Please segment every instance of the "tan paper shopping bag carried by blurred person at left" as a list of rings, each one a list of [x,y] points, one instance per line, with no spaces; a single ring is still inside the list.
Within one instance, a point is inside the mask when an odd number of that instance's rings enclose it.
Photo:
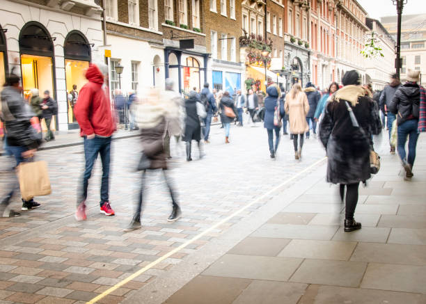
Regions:
[[[17,167],[19,188],[24,200],[31,200],[34,196],[49,195],[52,193],[47,163],[33,161],[20,163]]]

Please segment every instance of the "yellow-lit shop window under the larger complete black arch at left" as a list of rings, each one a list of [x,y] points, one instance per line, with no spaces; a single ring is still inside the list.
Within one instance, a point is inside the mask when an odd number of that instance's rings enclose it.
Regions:
[[[31,98],[31,89],[33,88],[38,88],[40,97],[43,97],[42,94],[45,90],[49,90],[51,94],[54,93],[52,57],[24,54],[21,56],[21,68],[25,99]],[[47,130],[44,120],[42,121],[42,129],[43,131]],[[52,119],[51,129],[56,129],[55,118]]]

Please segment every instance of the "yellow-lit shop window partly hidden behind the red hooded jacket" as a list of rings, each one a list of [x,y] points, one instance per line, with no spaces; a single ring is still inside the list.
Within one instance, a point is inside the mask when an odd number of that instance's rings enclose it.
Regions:
[[[68,123],[77,122],[74,117],[74,106],[78,102],[78,93],[86,84],[84,73],[88,69],[88,61],[76,61],[65,59],[65,78],[68,95]],[[76,88],[74,90],[73,88]],[[77,92],[75,92],[77,91]]]

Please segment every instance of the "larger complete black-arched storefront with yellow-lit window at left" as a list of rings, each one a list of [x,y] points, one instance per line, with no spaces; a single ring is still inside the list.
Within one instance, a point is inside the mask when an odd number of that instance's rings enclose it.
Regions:
[[[31,89],[37,88],[41,97],[45,90],[55,99],[54,90],[54,45],[45,27],[38,22],[28,22],[19,33],[22,88],[24,97],[31,97]],[[47,129],[45,122],[42,128]],[[56,118],[52,119],[52,129],[56,129]]]

